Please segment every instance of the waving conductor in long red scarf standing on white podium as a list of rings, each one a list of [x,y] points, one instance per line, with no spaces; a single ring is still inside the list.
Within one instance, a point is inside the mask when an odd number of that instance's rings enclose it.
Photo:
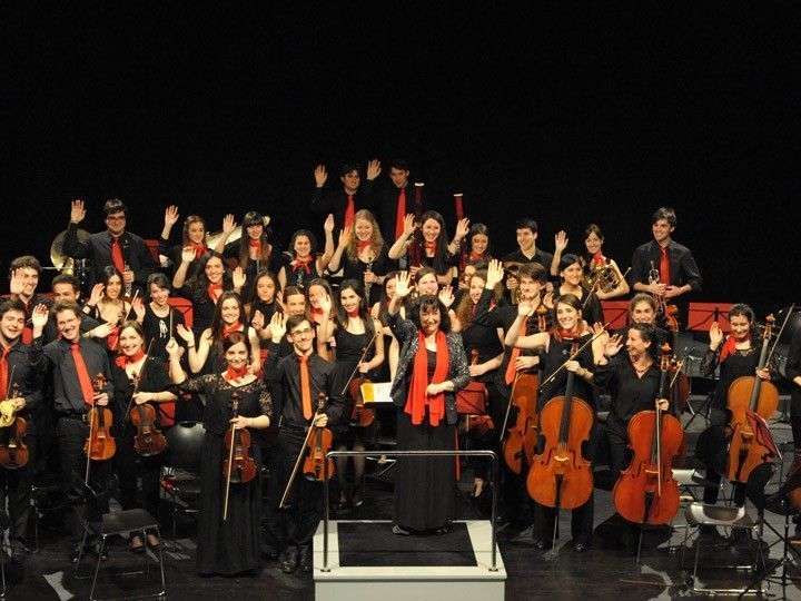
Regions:
[[[456,446],[456,396],[469,380],[462,337],[433,295],[421,296],[408,318],[398,315],[409,294],[409,274],[398,275],[389,303],[389,324],[402,346],[392,385],[397,407],[397,449],[453,451]],[[395,465],[393,531],[443,531],[455,515],[456,459],[399,457]]]

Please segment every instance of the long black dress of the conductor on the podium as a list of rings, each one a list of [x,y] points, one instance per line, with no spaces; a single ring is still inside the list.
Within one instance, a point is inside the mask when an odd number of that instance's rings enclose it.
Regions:
[[[436,368],[436,353],[426,349],[428,382]],[[428,408],[419,425],[403,407],[397,411],[398,451],[453,451],[456,425],[443,418],[438,426],[428,420]],[[399,457],[395,464],[394,522],[405,530],[444,528],[456,515],[456,457]]]

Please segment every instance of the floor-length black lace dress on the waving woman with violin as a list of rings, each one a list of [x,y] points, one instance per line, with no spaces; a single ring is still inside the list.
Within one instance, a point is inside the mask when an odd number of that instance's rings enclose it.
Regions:
[[[237,574],[259,568],[261,482],[259,471],[247,483],[231,484],[228,519],[222,521],[225,479],[224,436],[233,417],[231,393],[239,394],[239,415],[270,415],[273,403],[261,380],[234,386],[219,374],[188,380],[180,388],[206,395],[204,437],[200,451],[200,513],[197,533],[197,571],[201,574]],[[251,450],[258,455],[258,446]],[[260,457],[256,457],[258,463]]]

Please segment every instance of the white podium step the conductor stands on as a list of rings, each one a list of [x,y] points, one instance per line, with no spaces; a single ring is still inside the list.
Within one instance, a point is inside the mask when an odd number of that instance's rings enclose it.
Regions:
[[[488,521],[465,524],[475,565],[340,565],[339,523],[328,523],[328,569],[323,571],[323,523],[314,538],[314,580],[317,601],[494,601],[504,599],[506,570],[496,548],[496,570],[492,570],[491,525]],[[370,523],[390,529],[387,522]],[[413,538],[397,536],[398,544]],[[419,542],[417,540],[416,542]],[[396,545],[397,546],[397,545]],[[360,549],[360,553],[382,552]],[[424,552],[421,552],[424,554]]]

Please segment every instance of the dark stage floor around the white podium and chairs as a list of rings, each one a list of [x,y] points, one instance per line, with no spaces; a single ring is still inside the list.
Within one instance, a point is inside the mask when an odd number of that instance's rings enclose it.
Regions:
[[[689,431],[688,449],[694,449],[694,440],[702,430],[702,420],[699,417]],[[791,440],[788,424],[774,421],[771,431],[780,447]],[[788,447],[790,445],[787,445]],[[792,452],[785,455],[787,466],[792,462]],[[692,457],[690,457],[692,461]],[[387,474],[387,476],[390,472]],[[466,476],[468,477],[468,476]],[[468,483],[462,486],[468,490]],[[769,487],[769,491],[771,489]],[[726,493],[729,489],[724,490]],[[458,503],[461,520],[481,519],[484,514],[482,508],[469,501],[465,494]],[[755,516],[751,503],[748,511]],[[523,512],[524,513],[524,512]],[[557,540],[555,551],[543,552],[534,548],[531,539],[531,529],[525,521],[518,524],[507,524],[498,532],[498,544],[507,573],[506,599],[523,600],[547,598],[552,600],[580,599],[591,595],[594,599],[624,598],[627,601],[639,599],[670,599],[692,598],[689,592],[688,573],[692,573],[694,544],[690,543],[686,550],[685,571],[679,562],[681,549],[678,552],[669,550],[670,544],[681,545],[684,533],[681,528],[671,533],[654,530],[646,534],[642,551],[642,561],[635,562],[634,556],[627,554],[620,546],[610,546],[604,543],[604,535],[609,531],[609,519],[613,515],[611,493],[606,490],[595,490],[595,526],[596,538],[593,546],[585,553],[578,554],[568,544],[570,512],[562,514],[560,530],[562,536]],[[365,506],[358,512],[352,511],[343,515],[344,520],[387,519],[392,515],[392,490],[384,479],[372,479],[365,494]],[[522,515],[523,518],[523,515]],[[783,530],[783,516],[768,513],[768,522],[780,532]],[[675,525],[684,523],[680,512]],[[69,544],[62,535],[63,516],[51,514],[46,516],[41,525],[40,552],[28,555],[24,573],[13,570],[8,563],[10,600],[68,600],[86,599],[88,597],[90,580],[75,580],[72,565],[68,563]],[[377,529],[389,529],[387,524],[374,524]],[[350,526],[349,526],[350,528]],[[362,526],[359,536],[366,535]],[[791,534],[794,524],[790,524]],[[169,529],[167,529],[168,531]],[[271,599],[271,600],[303,600],[314,598],[314,582],[310,574],[284,574],[276,561],[266,561],[264,570],[255,577],[246,578],[200,578],[195,574],[195,545],[190,538],[192,532],[190,523],[184,523],[179,531],[180,551],[165,552],[165,566],[168,598],[210,599],[219,595],[220,599]],[[168,532],[165,532],[168,534]],[[397,551],[405,536],[387,536],[387,552]],[[764,540],[768,544],[777,541],[777,536],[765,530]],[[748,541],[726,544],[721,538],[704,538],[704,551],[699,568],[699,583],[704,585],[726,588],[744,587],[750,580],[746,572],[723,570],[720,565],[748,563],[750,560]],[[411,548],[418,541],[409,540]],[[713,548],[716,545],[718,548]],[[770,559],[781,558],[781,545],[770,548]],[[385,558],[380,559],[384,561]],[[141,561],[140,556],[128,551],[127,542],[117,540],[111,550],[111,559],[101,566],[100,595],[119,597],[119,585],[126,584],[126,577],[109,577],[116,570],[132,569]],[[415,561],[415,560],[407,560]],[[87,564],[88,568],[88,564]],[[790,575],[795,575],[789,571]],[[155,584],[156,574],[150,574]],[[154,589],[150,589],[154,590]],[[144,591],[142,591],[144,592]],[[773,584],[770,595],[781,597],[781,587]],[[698,597],[701,597],[700,594]],[[795,579],[787,588],[789,599],[801,599],[801,580]]]

